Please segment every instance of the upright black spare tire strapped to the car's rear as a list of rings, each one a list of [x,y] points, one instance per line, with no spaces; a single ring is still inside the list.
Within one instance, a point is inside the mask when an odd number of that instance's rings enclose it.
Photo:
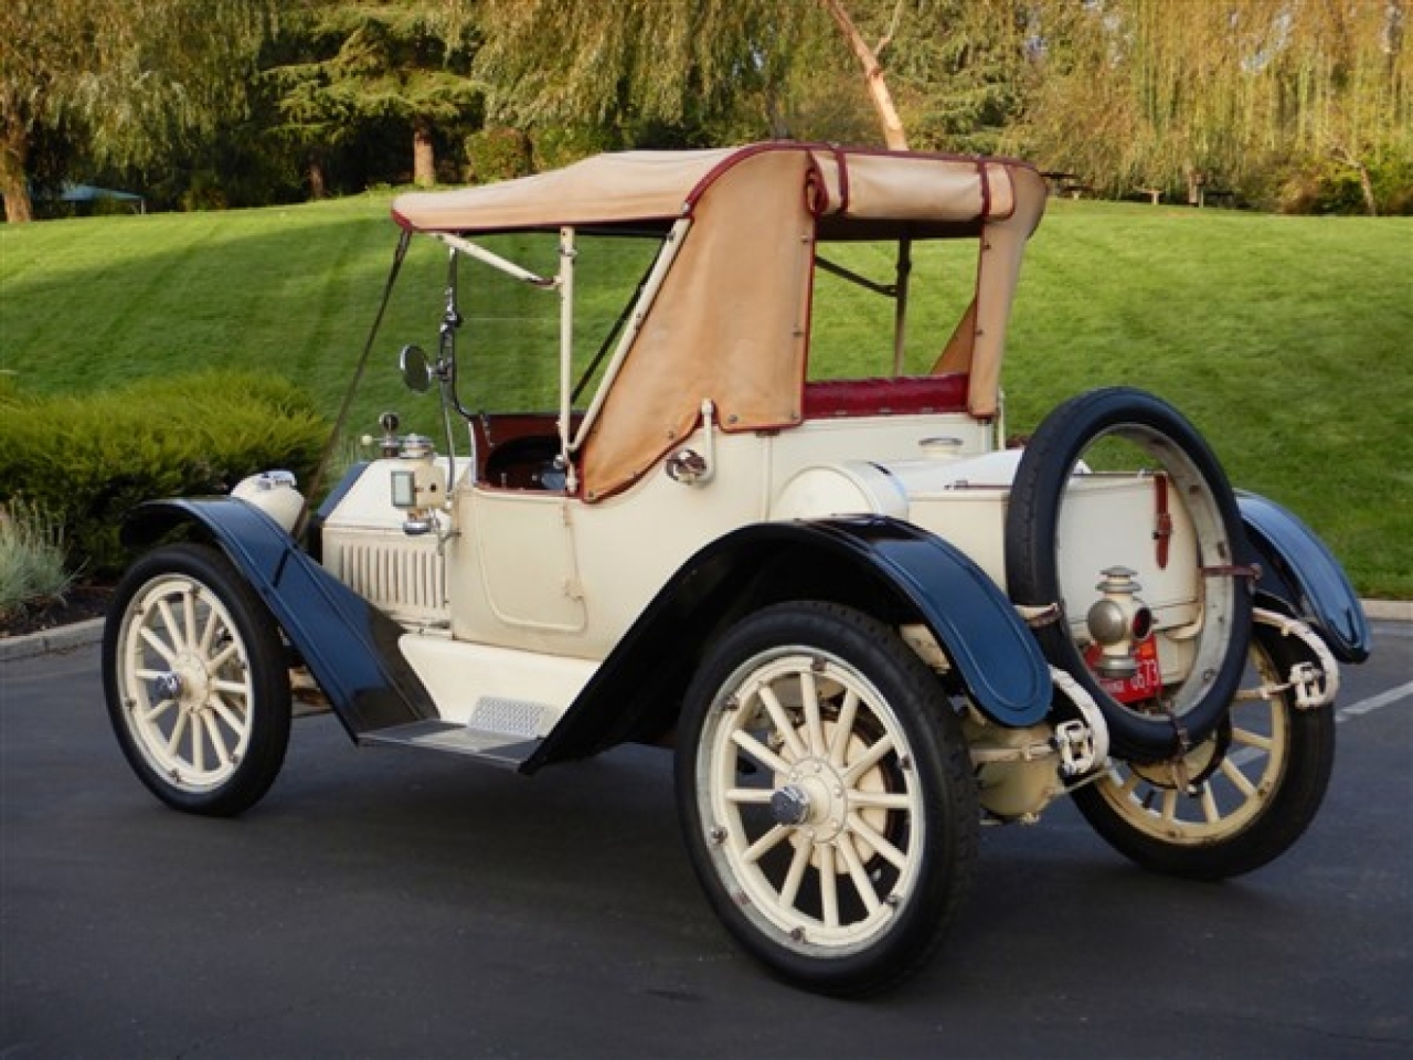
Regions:
[[[1104,690],[1070,632],[1068,609],[1087,608],[1089,601],[1063,599],[1057,543],[1075,465],[1105,437],[1139,445],[1174,482],[1174,503],[1186,505],[1197,527],[1198,567],[1241,567],[1248,563],[1249,548],[1236,499],[1217,457],[1195,427],[1153,394],[1130,387],[1080,394],[1050,413],[1026,445],[1006,514],[1010,596],[1027,606],[1061,605],[1058,622],[1036,629],[1046,657],[1094,697],[1116,755],[1156,762],[1178,753],[1183,739],[1190,746],[1205,741],[1226,717],[1246,663],[1251,591],[1249,582],[1231,574],[1205,578],[1197,594],[1207,611],[1197,636],[1197,661],[1193,677],[1174,693],[1173,717],[1130,709]],[[1099,578],[1099,571],[1092,574]],[[1204,579],[1201,570],[1191,575],[1194,585]]]

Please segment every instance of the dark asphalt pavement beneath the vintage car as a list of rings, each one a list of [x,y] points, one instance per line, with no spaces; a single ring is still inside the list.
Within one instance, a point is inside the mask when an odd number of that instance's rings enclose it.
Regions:
[[[1347,670],[1320,818],[1197,885],[1078,814],[986,830],[916,979],[784,987],[691,876],[671,759],[534,779],[297,722],[239,820],[127,770],[97,650],[0,661],[0,1059],[1409,1057],[1413,625]]]

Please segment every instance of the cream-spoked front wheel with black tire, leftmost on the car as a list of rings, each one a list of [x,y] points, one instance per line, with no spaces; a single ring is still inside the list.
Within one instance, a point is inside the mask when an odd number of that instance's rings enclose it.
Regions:
[[[127,571],[103,629],[103,691],[123,755],[177,810],[239,814],[284,763],[278,628],[216,548],[157,548]]]

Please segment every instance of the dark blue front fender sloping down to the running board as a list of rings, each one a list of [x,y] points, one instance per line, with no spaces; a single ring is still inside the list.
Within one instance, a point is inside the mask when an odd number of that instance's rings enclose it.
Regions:
[[[264,512],[236,497],[154,500],[133,509],[123,543],[199,526],[260,594],[350,735],[437,717],[403,660],[401,626],[311,560]]]

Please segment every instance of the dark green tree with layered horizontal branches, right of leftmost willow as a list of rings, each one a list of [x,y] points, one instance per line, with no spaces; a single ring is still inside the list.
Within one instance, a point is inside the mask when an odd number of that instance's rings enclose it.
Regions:
[[[437,129],[479,124],[473,44],[469,8],[455,0],[314,3],[287,34],[294,55],[266,76],[281,114],[277,131],[307,151],[315,194],[325,154],[389,119],[411,133],[413,179],[434,184]]]

